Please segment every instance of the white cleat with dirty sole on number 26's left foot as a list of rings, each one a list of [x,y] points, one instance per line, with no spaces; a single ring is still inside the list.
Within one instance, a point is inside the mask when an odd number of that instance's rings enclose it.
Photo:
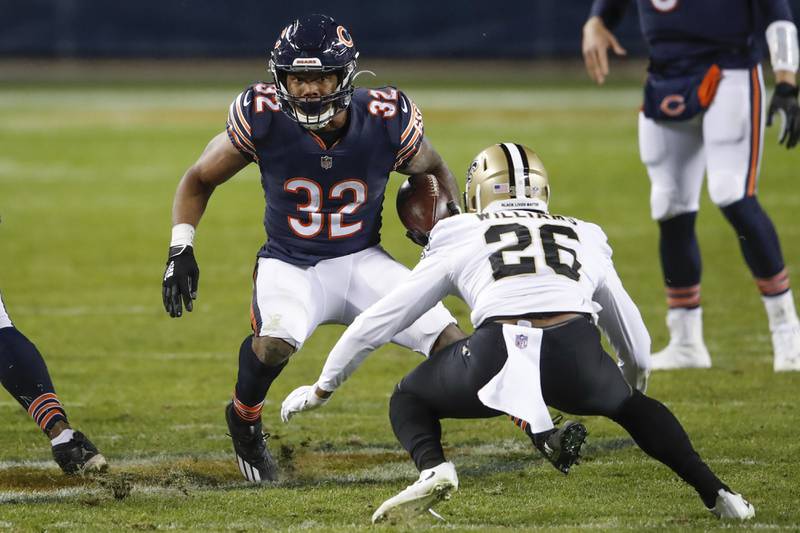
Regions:
[[[458,490],[458,476],[453,463],[442,463],[423,470],[419,479],[396,496],[381,504],[372,514],[372,523],[407,521],[428,511],[442,500],[449,500],[450,493]]]

